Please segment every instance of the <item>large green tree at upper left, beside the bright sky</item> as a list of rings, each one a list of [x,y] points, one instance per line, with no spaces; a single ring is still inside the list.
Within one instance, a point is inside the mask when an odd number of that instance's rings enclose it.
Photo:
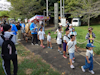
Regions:
[[[41,0],[9,0],[12,4],[10,9],[11,17],[30,18],[36,14],[43,14],[44,6],[40,5]]]

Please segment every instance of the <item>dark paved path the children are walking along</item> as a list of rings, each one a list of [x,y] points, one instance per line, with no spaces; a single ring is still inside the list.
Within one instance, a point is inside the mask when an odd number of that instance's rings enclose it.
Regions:
[[[34,52],[36,55],[40,55],[47,63],[51,64],[54,68],[56,68],[59,72],[65,72],[65,75],[91,75],[88,70],[86,73],[81,71],[80,66],[85,64],[85,57],[82,55],[75,53],[75,63],[74,66],[76,67],[74,70],[69,66],[69,60],[64,59],[62,55],[60,55],[57,51],[57,45],[53,41],[53,49],[41,48],[40,46],[32,46],[31,42],[29,41],[26,43],[25,41],[21,41],[21,43],[27,47],[31,52]],[[46,46],[46,41],[44,41]],[[79,51],[79,50],[78,50]],[[80,53],[85,53],[84,51],[79,51]],[[100,58],[97,57],[100,61]],[[100,75],[100,65],[94,62],[94,71],[95,75]]]

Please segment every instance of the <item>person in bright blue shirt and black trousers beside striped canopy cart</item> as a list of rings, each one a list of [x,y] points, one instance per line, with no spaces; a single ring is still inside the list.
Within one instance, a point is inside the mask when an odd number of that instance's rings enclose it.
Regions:
[[[34,40],[36,41],[35,45],[38,45],[38,37],[37,37],[38,27],[37,27],[36,23],[37,23],[37,21],[34,20],[34,22],[31,23],[31,25],[30,25],[30,31],[32,34],[32,45],[35,44]]]

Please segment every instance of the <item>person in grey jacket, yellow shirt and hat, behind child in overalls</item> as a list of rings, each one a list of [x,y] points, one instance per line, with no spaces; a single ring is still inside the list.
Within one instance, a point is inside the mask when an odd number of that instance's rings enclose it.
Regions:
[[[92,32],[93,28],[92,27],[89,27],[88,28],[88,33],[86,35],[86,39],[88,40],[87,43],[91,43],[93,44],[94,43],[94,38],[96,38],[95,34]]]

